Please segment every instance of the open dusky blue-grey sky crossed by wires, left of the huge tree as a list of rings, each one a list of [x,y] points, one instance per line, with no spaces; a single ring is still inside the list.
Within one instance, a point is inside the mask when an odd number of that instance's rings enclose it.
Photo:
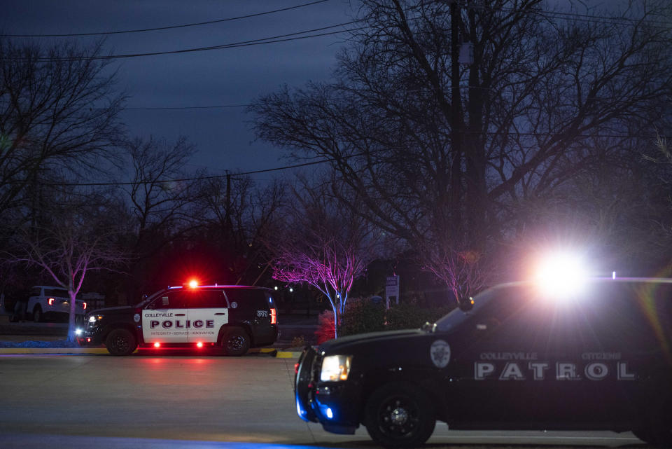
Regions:
[[[79,34],[186,25],[264,13],[314,0],[3,0],[2,34]],[[351,20],[347,0],[328,0],[258,17],[153,32],[106,36],[110,53],[151,53],[218,46],[336,25]],[[325,32],[335,31],[328,29]],[[89,42],[92,37],[68,37]],[[50,41],[53,38],[25,38]],[[327,81],[346,34],[260,46],[113,62],[128,108],[248,104],[281,85]],[[130,135],[184,135],[197,146],[192,168],[246,172],[286,165],[282,153],[254,141],[244,107],[126,110]],[[274,176],[274,175],[273,175]],[[264,177],[265,179],[271,177]]]

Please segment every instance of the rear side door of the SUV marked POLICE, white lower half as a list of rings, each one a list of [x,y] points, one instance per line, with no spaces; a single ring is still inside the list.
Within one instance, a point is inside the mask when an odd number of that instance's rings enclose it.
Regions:
[[[219,329],[229,322],[221,289],[186,289],[189,303],[189,343],[216,343]]]

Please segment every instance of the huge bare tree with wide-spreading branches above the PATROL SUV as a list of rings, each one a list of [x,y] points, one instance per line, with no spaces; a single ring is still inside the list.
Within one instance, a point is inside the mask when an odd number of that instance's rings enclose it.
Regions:
[[[590,166],[594,139],[631,151],[672,95],[668,3],[588,11],[607,15],[596,21],[552,5],[365,0],[337,81],[261,97],[255,130],[332,160],[351,209],[468,296],[517,211]]]

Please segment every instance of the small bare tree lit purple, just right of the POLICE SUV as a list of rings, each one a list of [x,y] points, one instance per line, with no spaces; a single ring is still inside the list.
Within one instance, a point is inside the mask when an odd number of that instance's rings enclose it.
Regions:
[[[336,335],[355,279],[376,256],[378,237],[372,226],[339,207],[325,188],[295,188],[295,205],[287,224],[269,249],[275,279],[306,283],[329,300]]]

